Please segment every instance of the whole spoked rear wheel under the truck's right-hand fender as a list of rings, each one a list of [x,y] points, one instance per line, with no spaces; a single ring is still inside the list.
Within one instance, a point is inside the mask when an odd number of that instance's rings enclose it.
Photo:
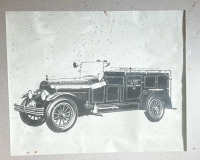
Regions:
[[[151,122],[158,122],[165,113],[165,103],[159,95],[152,95],[147,99],[147,110],[145,115]]]

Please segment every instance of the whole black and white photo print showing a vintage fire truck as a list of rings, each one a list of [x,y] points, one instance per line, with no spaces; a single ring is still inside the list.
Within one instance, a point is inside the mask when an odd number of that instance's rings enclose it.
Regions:
[[[183,151],[183,11],[7,11],[12,156]]]

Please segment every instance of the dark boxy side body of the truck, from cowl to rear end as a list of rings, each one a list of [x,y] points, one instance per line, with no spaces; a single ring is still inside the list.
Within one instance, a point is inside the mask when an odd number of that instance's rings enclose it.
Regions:
[[[89,103],[140,103],[145,92],[163,91],[170,97],[170,74],[150,72],[105,72],[106,86],[91,90]]]

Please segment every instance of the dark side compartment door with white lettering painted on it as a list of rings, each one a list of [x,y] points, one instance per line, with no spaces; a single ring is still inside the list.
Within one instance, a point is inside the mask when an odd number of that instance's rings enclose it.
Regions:
[[[134,100],[140,98],[142,93],[142,76],[127,75],[126,76],[126,100]]]

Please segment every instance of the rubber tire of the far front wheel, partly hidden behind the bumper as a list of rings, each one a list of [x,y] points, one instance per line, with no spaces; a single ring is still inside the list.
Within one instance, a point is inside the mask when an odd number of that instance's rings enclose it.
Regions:
[[[26,103],[27,103],[27,99],[25,99],[25,100],[22,102],[21,105],[25,105]],[[32,120],[31,118],[29,118],[29,116],[28,116],[29,114],[27,114],[27,113],[19,112],[19,115],[20,115],[21,120],[22,120],[25,124],[27,124],[27,125],[29,125],[29,126],[37,127],[37,126],[41,126],[41,125],[45,122],[44,117],[42,117],[42,118],[39,119],[39,120]]]

